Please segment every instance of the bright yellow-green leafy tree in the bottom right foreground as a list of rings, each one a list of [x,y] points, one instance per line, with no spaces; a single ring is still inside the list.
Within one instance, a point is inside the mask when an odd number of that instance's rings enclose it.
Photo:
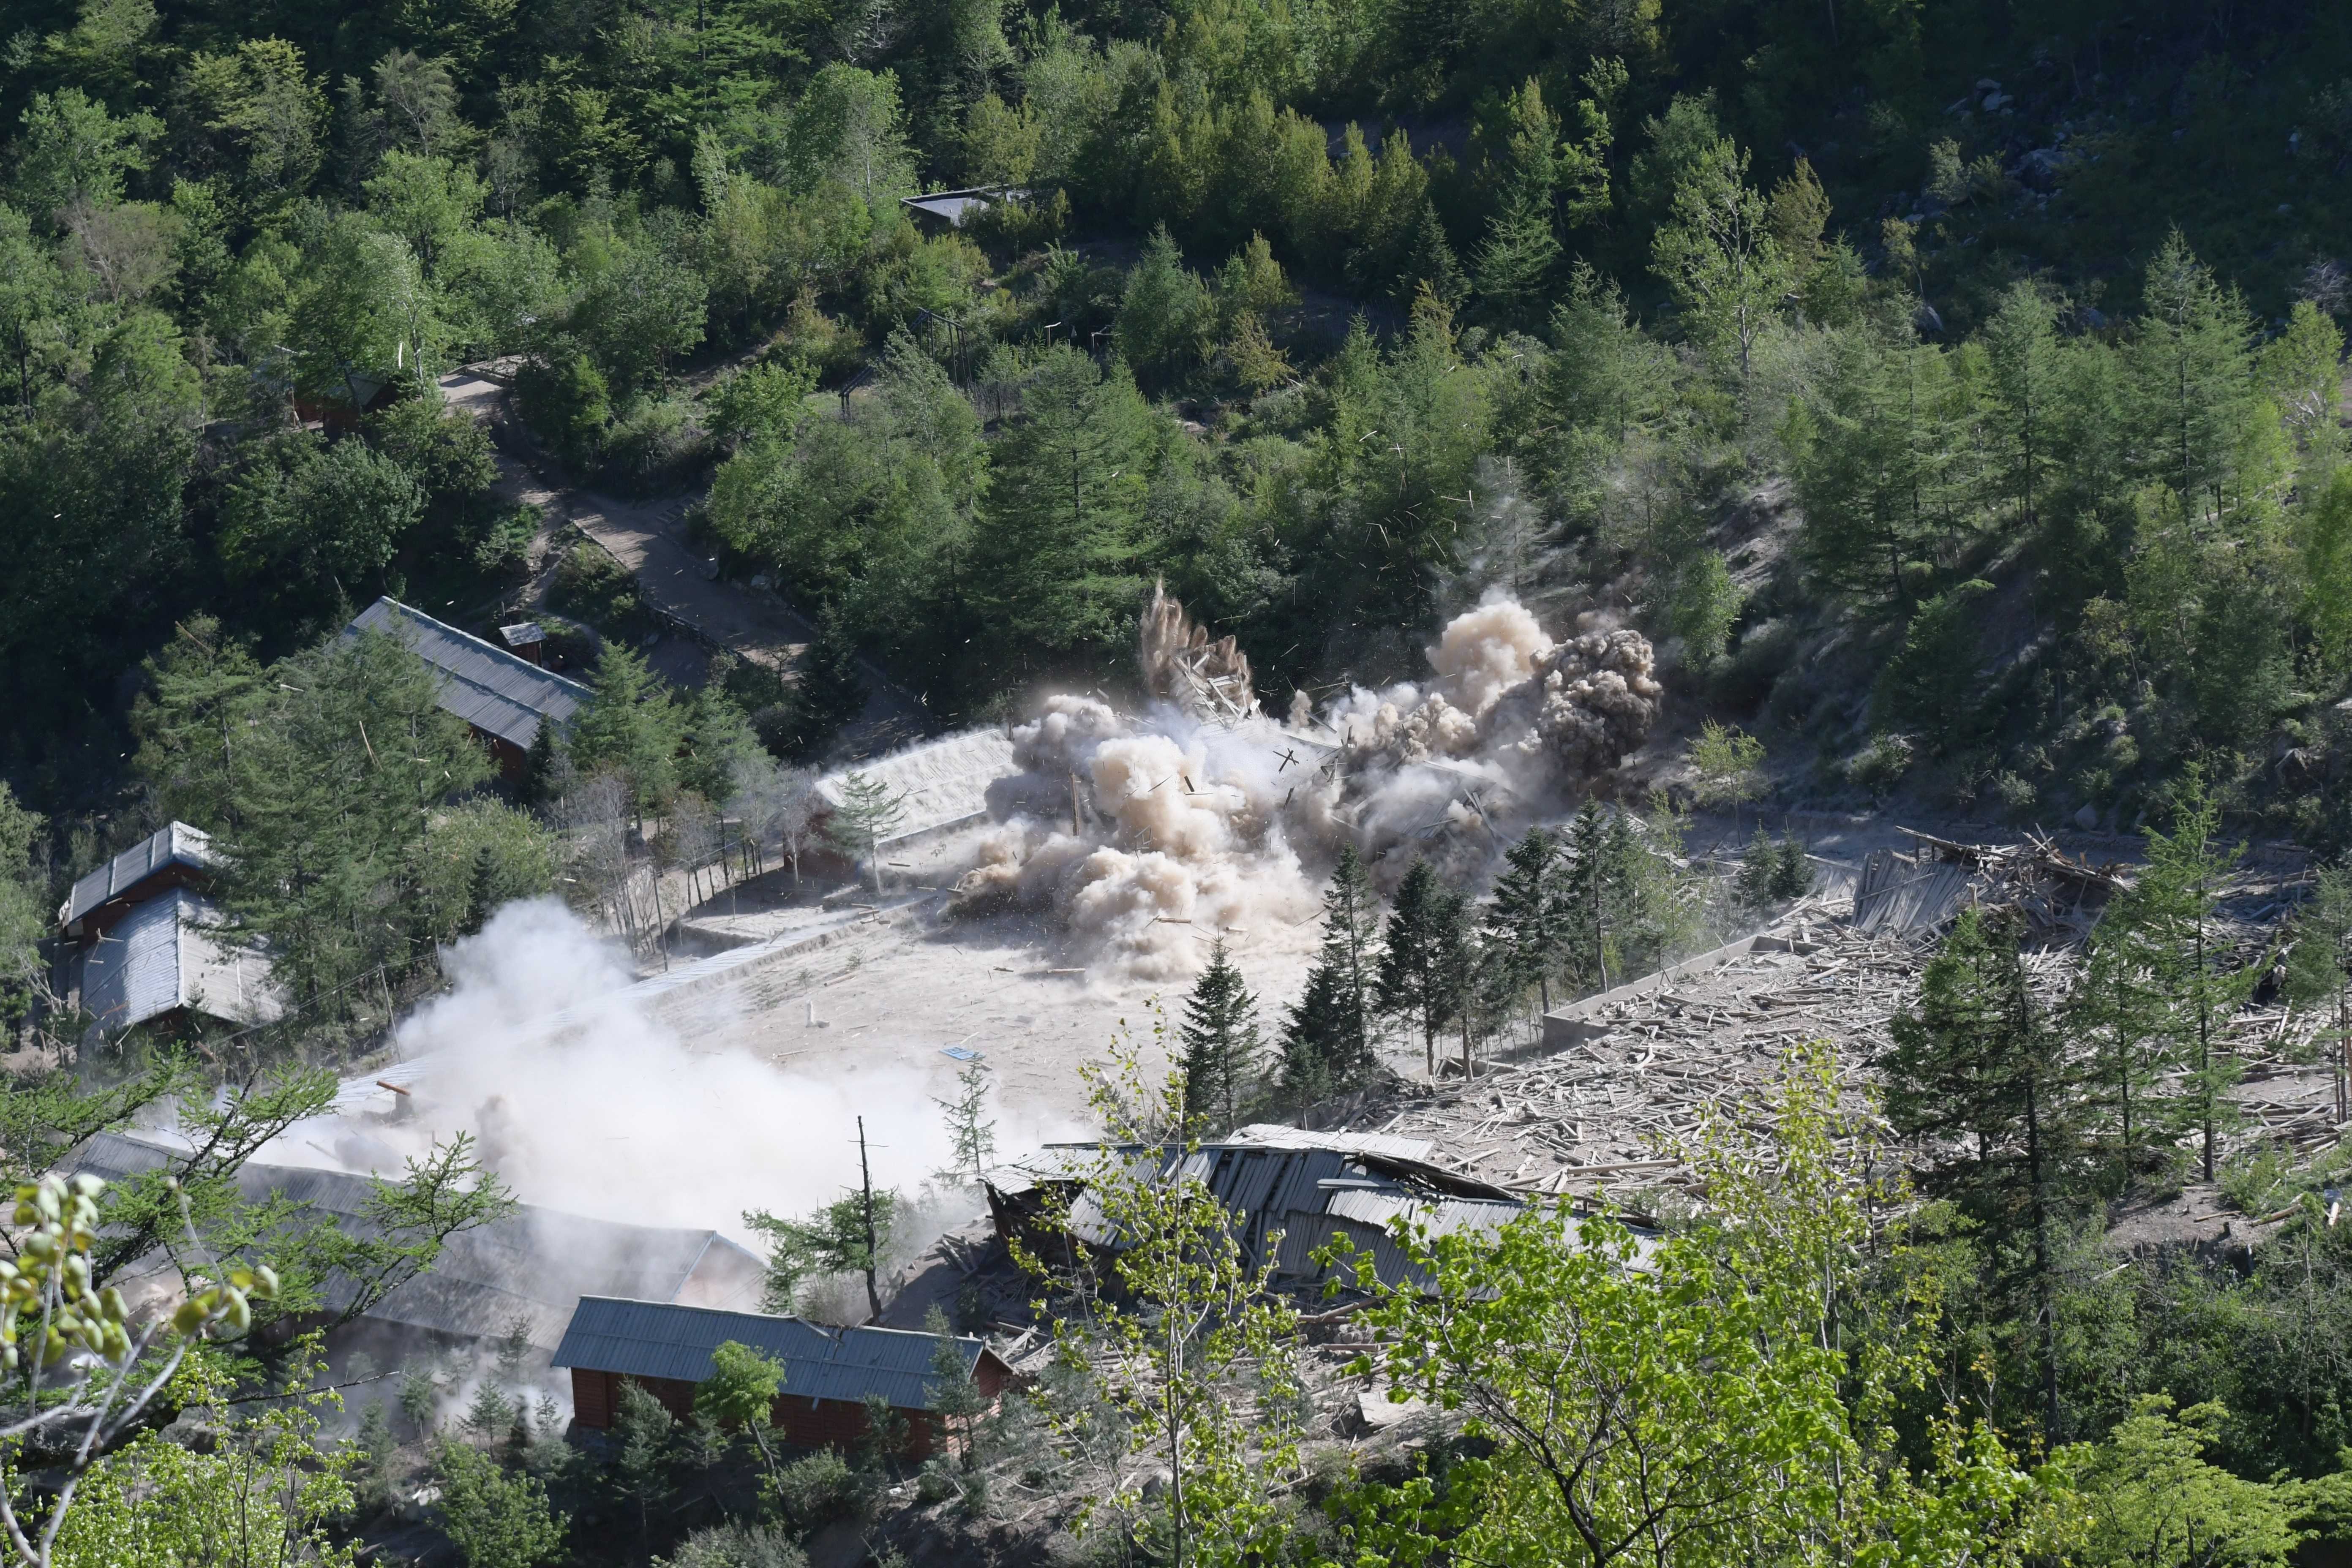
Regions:
[[[1924,1347],[1825,1331],[1870,1239],[1870,1192],[1832,1154],[1835,1107],[1835,1067],[1795,1058],[1773,1147],[1710,1131],[1708,1211],[1656,1241],[1559,1204],[1491,1239],[1395,1222],[1421,1267],[1402,1286],[1355,1260],[1383,1342],[1357,1371],[1458,1410],[1491,1446],[1449,1474],[1463,1505],[1449,1554],[1515,1561],[1524,1542],[1571,1542],[1592,1563],[1717,1561],[1835,1542],[2018,1561],[2063,1540],[2058,1481],[2025,1474],[1990,1427],[1945,1415],[1917,1469],[1879,1446]],[[1374,1493],[1355,1535],[1421,1561],[1437,1502],[1428,1481]]]

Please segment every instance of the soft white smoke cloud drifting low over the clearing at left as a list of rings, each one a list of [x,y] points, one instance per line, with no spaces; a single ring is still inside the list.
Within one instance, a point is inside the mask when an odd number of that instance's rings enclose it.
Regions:
[[[800,1215],[858,1178],[866,1117],[877,1185],[915,1192],[950,1164],[948,1131],[913,1067],[844,1079],[743,1051],[689,1048],[628,987],[628,954],[553,898],[510,903],[442,959],[454,987],[400,1027],[430,1056],[400,1121],[322,1119],[261,1159],[397,1175],[435,1138],[470,1133],[524,1204],[633,1225],[710,1227],[750,1244],[746,1208]],[[995,1107],[1000,1147],[1082,1135]],[[755,1248],[757,1251],[757,1248]]]

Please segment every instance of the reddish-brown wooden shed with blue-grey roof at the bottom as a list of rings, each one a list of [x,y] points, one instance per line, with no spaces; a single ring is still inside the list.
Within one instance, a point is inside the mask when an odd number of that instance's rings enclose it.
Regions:
[[[710,1378],[710,1354],[729,1340],[783,1363],[783,1392],[769,1425],[786,1443],[854,1443],[868,1429],[866,1399],[882,1396],[908,1420],[908,1458],[927,1460],[943,1446],[943,1422],[934,1410],[936,1335],[823,1328],[797,1316],[609,1295],[581,1298],[555,1349],[555,1366],[572,1371],[572,1420],[609,1429],[623,1382],[649,1392],[670,1415],[689,1418],[696,1385]],[[981,1396],[995,1401],[1011,1382],[1011,1368],[978,1338],[957,1335],[953,1345]]]

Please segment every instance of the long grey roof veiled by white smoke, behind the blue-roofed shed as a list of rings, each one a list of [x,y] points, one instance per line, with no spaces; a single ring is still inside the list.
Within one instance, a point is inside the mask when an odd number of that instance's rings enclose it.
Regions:
[[[181,1154],[148,1138],[101,1133],[82,1145],[71,1168],[122,1182]],[[376,1190],[365,1175],[247,1164],[238,1171],[238,1192],[254,1204],[285,1197],[332,1218],[348,1237],[379,1234],[369,1213]],[[449,1237],[428,1274],[386,1295],[367,1316],[475,1340],[503,1335],[520,1316],[532,1345],[553,1349],[583,1295],[753,1307],[762,1276],[757,1255],[713,1229],[621,1225],[524,1204],[503,1220]],[[327,1309],[341,1312],[353,1281],[327,1279],[320,1295]]]

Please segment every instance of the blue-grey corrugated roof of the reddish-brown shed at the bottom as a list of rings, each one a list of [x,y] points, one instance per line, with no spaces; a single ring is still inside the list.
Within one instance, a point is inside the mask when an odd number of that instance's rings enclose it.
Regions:
[[[856,1403],[882,1394],[898,1410],[931,1408],[931,1356],[938,1352],[934,1335],[903,1328],[818,1328],[764,1312],[588,1295],[572,1314],[555,1366],[701,1382],[710,1375],[710,1352],[729,1340],[783,1361],[788,1399]],[[978,1366],[978,1340],[960,1335],[955,1347],[967,1373]]]

